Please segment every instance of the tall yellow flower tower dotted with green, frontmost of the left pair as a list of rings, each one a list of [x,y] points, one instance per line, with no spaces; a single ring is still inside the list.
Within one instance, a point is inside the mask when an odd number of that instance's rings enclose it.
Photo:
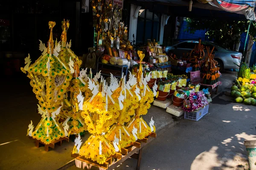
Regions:
[[[55,48],[53,48],[52,28],[54,26],[55,22],[50,21],[50,37],[47,48],[40,41],[41,57],[30,66],[30,57],[27,57],[25,59],[26,66],[21,68],[24,73],[28,73],[28,77],[31,79],[30,85],[39,100],[38,112],[42,116],[35,130],[31,121],[28,135],[44,144],[49,144],[65,136],[63,128],[55,118],[61,111],[61,102],[72,77],[70,70],[72,67],[68,68],[58,58],[58,52],[61,51],[59,43],[55,44]]]

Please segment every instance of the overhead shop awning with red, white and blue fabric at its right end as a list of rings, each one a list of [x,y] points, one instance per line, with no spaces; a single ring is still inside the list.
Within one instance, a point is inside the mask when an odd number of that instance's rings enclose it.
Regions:
[[[213,17],[223,19],[255,19],[256,0],[212,0],[200,3],[193,0],[192,11],[189,11],[189,0],[127,0],[138,6],[180,17]],[[231,12],[231,13],[230,13]],[[246,17],[246,18],[245,18]]]

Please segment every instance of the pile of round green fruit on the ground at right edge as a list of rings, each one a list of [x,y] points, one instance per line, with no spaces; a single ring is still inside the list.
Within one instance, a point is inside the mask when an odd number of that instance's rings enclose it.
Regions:
[[[256,86],[241,86],[239,89],[236,85],[231,87],[231,96],[235,98],[237,103],[242,103],[246,105],[256,106]]]

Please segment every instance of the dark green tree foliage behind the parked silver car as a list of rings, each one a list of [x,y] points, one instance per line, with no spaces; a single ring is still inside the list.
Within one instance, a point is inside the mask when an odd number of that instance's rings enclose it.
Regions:
[[[206,35],[210,40],[223,45],[226,48],[239,42],[240,35],[247,32],[250,21],[228,21],[228,20],[208,20],[187,18],[188,25],[185,31],[193,34],[196,30],[206,30]],[[249,35],[256,37],[256,22],[252,21]],[[256,38],[254,38],[254,41]]]

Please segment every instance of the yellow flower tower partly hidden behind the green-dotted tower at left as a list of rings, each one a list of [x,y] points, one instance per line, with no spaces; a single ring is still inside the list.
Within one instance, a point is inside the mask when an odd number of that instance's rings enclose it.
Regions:
[[[72,79],[65,93],[63,109],[61,118],[65,119],[62,123],[65,133],[68,136],[78,134],[87,130],[87,127],[81,119],[81,110],[84,101],[83,92],[86,90],[86,83],[84,82],[84,71],[80,73],[79,68],[82,61],[74,54],[70,49],[70,43],[67,43],[67,29],[69,28],[69,20],[61,22],[62,34],[61,34],[61,51],[59,52],[59,58],[68,67],[71,66]],[[79,75],[80,73],[80,75]],[[70,97],[69,97],[70,96]]]

